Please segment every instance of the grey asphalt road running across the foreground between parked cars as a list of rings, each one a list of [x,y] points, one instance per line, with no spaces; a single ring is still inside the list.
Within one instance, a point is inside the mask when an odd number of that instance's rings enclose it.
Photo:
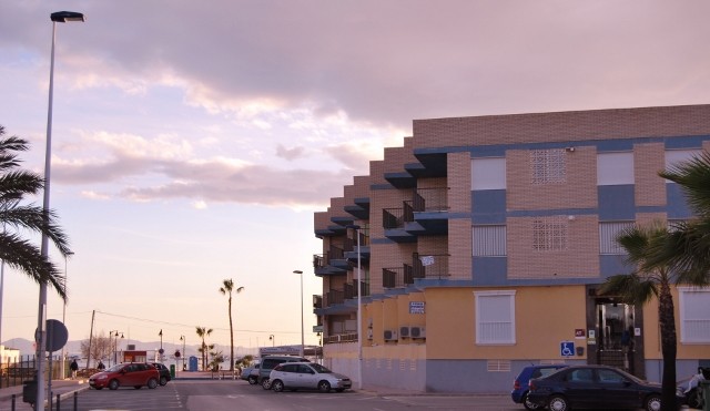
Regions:
[[[64,401],[62,410],[72,410]],[[122,388],[116,391],[85,390],[78,410],[190,410],[190,411],[399,411],[481,410],[520,411],[507,395],[386,394],[371,391],[321,393],[273,392],[245,381],[178,380],[154,390]]]

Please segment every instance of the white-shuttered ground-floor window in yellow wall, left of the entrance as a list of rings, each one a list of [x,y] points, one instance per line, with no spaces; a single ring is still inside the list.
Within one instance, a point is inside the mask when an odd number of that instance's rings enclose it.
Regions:
[[[515,343],[515,291],[474,291],[476,343]]]

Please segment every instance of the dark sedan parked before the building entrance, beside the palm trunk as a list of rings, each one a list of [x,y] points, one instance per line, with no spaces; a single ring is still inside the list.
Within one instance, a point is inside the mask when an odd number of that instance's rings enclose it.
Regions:
[[[531,379],[528,401],[550,411],[661,409],[661,384],[608,366],[574,366]],[[678,404],[682,401],[678,399]]]

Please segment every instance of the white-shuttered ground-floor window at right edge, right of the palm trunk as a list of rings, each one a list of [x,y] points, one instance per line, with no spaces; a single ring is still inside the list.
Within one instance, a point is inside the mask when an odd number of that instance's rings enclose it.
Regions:
[[[710,342],[710,289],[679,287],[680,342]]]

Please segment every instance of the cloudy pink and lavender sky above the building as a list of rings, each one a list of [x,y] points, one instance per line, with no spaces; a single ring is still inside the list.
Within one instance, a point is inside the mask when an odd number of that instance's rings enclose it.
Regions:
[[[48,318],[70,340],[317,343],[313,213],[412,121],[710,101],[710,3],[23,0],[0,2],[0,124],[43,173],[75,253]],[[31,199],[41,204],[40,197]],[[40,238],[27,233],[27,238]],[[303,270],[303,299],[301,276]],[[39,287],[3,271],[0,340],[33,339]],[[273,340],[270,340],[273,336]]]

